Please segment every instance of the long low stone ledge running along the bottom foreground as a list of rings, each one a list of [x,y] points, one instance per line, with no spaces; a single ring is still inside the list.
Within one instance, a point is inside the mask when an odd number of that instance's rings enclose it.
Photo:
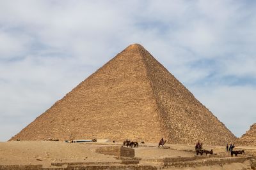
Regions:
[[[141,160],[143,164],[139,164],[140,159],[117,159],[117,162],[55,162],[51,163],[51,167],[43,167],[42,165],[25,165],[25,166],[0,166],[2,169],[15,170],[85,170],[85,169],[168,169],[168,168],[184,168],[184,167],[200,167],[200,166],[223,166],[225,164],[243,163],[246,160],[252,162],[252,169],[255,167],[254,157],[223,157],[223,158],[164,158],[161,160]],[[148,162],[148,164],[146,163]],[[152,162],[153,164],[150,164]]]

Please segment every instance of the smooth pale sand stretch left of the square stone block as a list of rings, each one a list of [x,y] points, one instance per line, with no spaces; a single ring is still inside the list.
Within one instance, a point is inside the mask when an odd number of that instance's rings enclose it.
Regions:
[[[0,143],[0,164],[43,164],[51,162],[114,162],[111,155],[95,153],[101,145],[59,141],[11,141]]]

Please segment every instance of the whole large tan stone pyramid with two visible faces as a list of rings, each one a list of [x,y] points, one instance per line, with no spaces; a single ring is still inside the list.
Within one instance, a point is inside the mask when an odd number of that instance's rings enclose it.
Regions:
[[[211,97],[211,96],[209,96]],[[118,53],[10,140],[222,145],[236,136],[143,46]]]

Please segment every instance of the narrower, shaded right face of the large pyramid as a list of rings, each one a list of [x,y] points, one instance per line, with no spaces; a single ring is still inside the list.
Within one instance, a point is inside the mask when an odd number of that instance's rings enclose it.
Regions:
[[[202,103],[200,103],[193,96],[193,94],[191,94],[191,92],[189,92],[189,90],[186,89],[186,87],[184,87],[182,83],[180,83],[179,80],[177,80],[162,64],[160,64],[149,52],[147,52],[147,50],[141,48],[140,53],[141,55],[143,55],[143,59],[147,68],[148,77],[150,78],[152,89],[154,90],[154,95],[156,96],[157,99],[159,111],[161,111],[161,117],[163,117],[163,120],[166,120],[163,121],[164,129],[168,129],[168,131],[170,132],[168,138],[172,143],[193,144],[196,143],[196,141],[200,140],[205,144],[209,145],[223,145],[229,141],[236,140],[236,136],[234,136],[234,134],[232,134],[232,132],[229,131],[227,127],[225,127],[225,125],[221,123],[220,120],[218,120],[218,118],[216,118],[211,113],[211,111],[209,111]],[[166,79],[161,80],[162,77]],[[170,86],[170,84],[172,85]],[[176,89],[173,87],[176,87]],[[175,93],[175,96],[171,95],[173,93]],[[182,96],[183,94],[185,94],[185,97]],[[167,99],[164,99],[164,96],[167,96]],[[186,100],[182,100],[182,97],[184,97]],[[170,98],[172,99],[170,100]],[[175,102],[177,98],[179,98],[182,102]],[[168,101],[171,102],[168,103]],[[186,104],[184,105],[184,103],[188,104],[189,106],[186,106]],[[193,107],[190,105],[196,106]],[[204,121],[204,119],[202,120],[202,118],[199,118],[200,121],[196,122],[196,125],[198,125],[199,127],[194,128],[192,122],[192,125],[190,124],[190,127],[184,128],[186,127],[186,125],[188,125],[189,119],[187,120],[188,122],[184,122],[182,127],[179,127],[179,124],[173,124],[179,121],[184,121],[184,118],[186,117],[173,114],[172,111],[178,111],[180,114],[186,114],[186,112],[193,113],[194,111],[200,111],[202,112],[202,115],[206,115],[207,118],[211,118],[211,121],[213,121],[214,124],[205,122],[207,123],[207,125],[209,125],[209,127],[211,127],[210,129],[202,124],[200,125],[200,122]],[[214,134],[214,132],[216,132],[216,129],[218,129],[221,132],[219,134]]]

